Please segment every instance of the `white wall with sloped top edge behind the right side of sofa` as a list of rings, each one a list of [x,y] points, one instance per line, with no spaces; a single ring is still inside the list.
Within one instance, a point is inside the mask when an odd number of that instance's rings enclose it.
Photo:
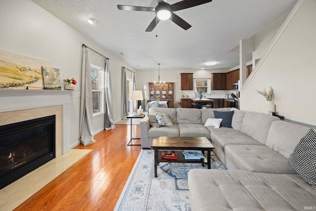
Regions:
[[[276,112],[316,125],[316,0],[300,0],[241,90],[241,109],[264,112],[257,90],[275,91]],[[288,24],[287,24],[288,22]]]

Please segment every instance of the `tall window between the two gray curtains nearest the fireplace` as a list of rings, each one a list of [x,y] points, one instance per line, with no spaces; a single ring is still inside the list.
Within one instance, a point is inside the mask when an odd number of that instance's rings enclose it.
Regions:
[[[93,115],[104,112],[104,69],[102,67],[90,64],[91,68],[91,85],[92,85],[92,104]]]

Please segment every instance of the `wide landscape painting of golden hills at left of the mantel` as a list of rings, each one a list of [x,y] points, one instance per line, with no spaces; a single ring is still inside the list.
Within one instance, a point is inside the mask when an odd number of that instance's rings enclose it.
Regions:
[[[0,89],[43,89],[41,66],[50,63],[0,50]]]

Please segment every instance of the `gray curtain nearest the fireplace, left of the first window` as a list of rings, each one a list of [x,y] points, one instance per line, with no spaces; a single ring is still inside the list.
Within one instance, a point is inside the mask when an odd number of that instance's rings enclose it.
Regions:
[[[80,103],[80,127],[79,139],[84,146],[95,143],[93,139],[93,106],[92,106],[92,85],[91,70],[88,60],[88,49],[82,46],[82,67],[81,67],[81,103]]]

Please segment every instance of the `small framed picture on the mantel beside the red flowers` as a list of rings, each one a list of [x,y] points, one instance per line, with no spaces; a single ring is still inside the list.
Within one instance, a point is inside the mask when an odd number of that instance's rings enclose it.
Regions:
[[[41,67],[44,89],[61,90],[60,71],[52,67]]]

